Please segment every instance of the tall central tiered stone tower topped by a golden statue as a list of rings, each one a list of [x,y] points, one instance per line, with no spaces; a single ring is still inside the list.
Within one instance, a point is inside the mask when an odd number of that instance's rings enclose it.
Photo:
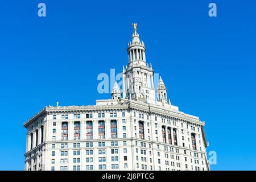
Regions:
[[[132,41],[128,43],[128,64],[123,67],[123,98],[155,101],[154,71],[146,63],[146,47],[139,39],[137,24],[133,23]]]

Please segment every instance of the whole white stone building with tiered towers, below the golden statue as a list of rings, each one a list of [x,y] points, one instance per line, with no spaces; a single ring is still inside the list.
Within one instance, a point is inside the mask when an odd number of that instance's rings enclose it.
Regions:
[[[135,31],[122,96],[94,106],[47,106],[24,123],[25,170],[209,170],[204,122],[167,102]]]

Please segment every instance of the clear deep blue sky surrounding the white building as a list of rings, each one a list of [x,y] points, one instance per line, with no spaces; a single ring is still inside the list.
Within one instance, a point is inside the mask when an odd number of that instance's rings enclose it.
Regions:
[[[205,121],[211,168],[255,170],[255,9],[254,0],[1,1],[0,169],[24,169],[23,122],[44,106],[110,97],[97,76],[122,71],[136,22],[172,104]]]

